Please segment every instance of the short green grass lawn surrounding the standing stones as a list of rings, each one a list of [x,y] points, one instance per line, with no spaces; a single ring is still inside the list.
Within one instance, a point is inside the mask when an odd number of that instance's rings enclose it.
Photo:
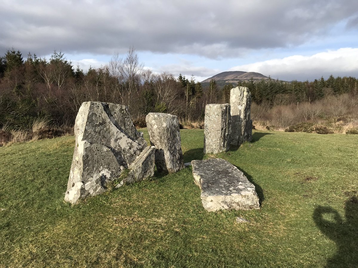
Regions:
[[[203,130],[181,135],[185,162],[211,157]],[[73,146],[0,148],[0,267],[358,266],[354,135],[255,131],[216,157],[245,172],[261,209],[210,213],[191,168],[64,203]]]

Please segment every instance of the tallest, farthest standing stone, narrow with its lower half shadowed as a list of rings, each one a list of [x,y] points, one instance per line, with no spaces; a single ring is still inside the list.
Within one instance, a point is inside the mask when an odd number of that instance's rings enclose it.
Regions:
[[[251,93],[245,86],[230,91],[231,144],[240,146],[252,139]]]

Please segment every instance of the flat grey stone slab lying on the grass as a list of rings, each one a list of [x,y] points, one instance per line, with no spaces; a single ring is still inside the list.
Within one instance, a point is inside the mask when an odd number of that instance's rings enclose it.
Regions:
[[[255,185],[226,160],[193,160],[192,168],[194,182],[202,190],[200,199],[207,211],[260,208]]]

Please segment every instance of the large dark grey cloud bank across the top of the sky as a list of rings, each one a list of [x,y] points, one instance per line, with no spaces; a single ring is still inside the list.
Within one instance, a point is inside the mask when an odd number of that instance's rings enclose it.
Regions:
[[[304,44],[356,21],[356,0],[8,1],[0,10],[0,52],[197,54],[207,58]]]

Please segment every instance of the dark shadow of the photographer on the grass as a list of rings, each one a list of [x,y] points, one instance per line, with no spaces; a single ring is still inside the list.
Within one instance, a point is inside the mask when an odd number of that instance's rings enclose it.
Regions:
[[[337,253],[327,260],[325,267],[358,265],[358,198],[354,196],[346,200],[344,209],[345,221],[338,211],[331,207],[318,206],[313,213],[318,228],[333,240],[338,248]]]

